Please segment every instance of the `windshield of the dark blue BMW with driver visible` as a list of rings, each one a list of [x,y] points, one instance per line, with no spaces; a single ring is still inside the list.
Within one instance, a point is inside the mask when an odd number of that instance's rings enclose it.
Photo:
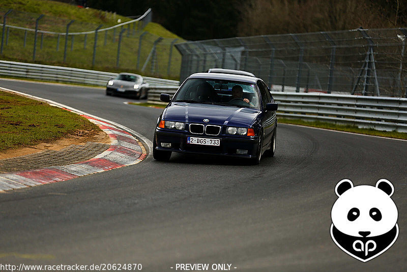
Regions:
[[[188,79],[172,101],[259,108],[255,84],[212,78]]]

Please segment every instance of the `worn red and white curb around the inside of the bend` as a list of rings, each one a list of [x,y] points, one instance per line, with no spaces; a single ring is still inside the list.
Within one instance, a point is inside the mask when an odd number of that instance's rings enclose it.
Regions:
[[[147,156],[147,150],[144,148],[141,142],[133,137],[132,134],[126,131],[128,130],[132,133],[134,132],[133,134],[138,134],[131,129],[128,129],[124,126],[121,127],[126,128],[126,130],[121,129],[120,127],[118,127],[118,124],[115,124],[114,122],[85,114],[81,111],[75,110],[74,108],[56,103],[51,100],[42,99],[9,89],[5,90],[46,101],[52,105],[62,107],[65,110],[77,113],[85,117],[90,122],[98,125],[104,132],[108,134],[111,140],[111,144],[106,151],[102,152],[96,157],[86,161],[77,162],[76,164],[0,174],[0,193],[12,189],[64,181],[89,174],[112,170],[115,168],[135,165]],[[142,135],[139,134],[137,135],[137,137],[144,138]],[[144,143],[147,144],[149,150],[151,150],[151,142],[146,138],[142,140],[144,141]]]

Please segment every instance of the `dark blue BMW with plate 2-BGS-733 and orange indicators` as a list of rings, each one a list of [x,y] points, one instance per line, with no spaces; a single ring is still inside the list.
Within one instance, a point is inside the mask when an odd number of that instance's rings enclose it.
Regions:
[[[172,99],[168,94],[160,99],[169,103],[157,120],[154,159],[168,161],[171,152],[181,152],[242,157],[258,164],[263,155],[274,156],[277,104],[260,78],[196,73]]]

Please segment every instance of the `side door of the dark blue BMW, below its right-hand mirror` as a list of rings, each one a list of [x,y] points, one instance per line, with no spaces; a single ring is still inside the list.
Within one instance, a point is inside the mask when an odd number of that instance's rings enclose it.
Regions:
[[[257,81],[258,89],[260,90],[261,99],[261,110],[263,111],[263,116],[261,117],[261,125],[264,131],[264,146],[268,145],[271,141],[273,135],[273,112],[266,111],[266,104],[271,103],[270,94],[266,84],[262,80]]]

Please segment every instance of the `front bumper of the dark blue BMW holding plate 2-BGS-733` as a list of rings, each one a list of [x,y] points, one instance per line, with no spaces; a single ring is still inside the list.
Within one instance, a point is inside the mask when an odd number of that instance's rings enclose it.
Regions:
[[[207,146],[188,144],[187,137],[220,139],[220,146]],[[171,147],[162,147],[161,143],[170,143]],[[156,150],[198,153],[221,156],[233,156],[242,158],[253,158],[257,155],[258,137],[237,137],[232,135],[200,135],[188,131],[173,131],[169,129],[156,128],[155,131]],[[247,154],[237,154],[237,150],[247,150]]]

